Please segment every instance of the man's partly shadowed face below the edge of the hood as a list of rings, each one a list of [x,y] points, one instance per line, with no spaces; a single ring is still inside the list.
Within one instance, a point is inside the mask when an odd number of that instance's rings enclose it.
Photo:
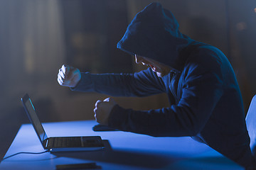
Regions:
[[[137,64],[142,63],[143,65],[147,65],[151,67],[153,72],[156,72],[156,75],[158,77],[164,77],[165,75],[169,74],[171,72],[171,67],[161,64],[160,62],[156,62],[155,60],[149,59],[147,57],[142,57],[139,55],[135,55],[135,62]]]

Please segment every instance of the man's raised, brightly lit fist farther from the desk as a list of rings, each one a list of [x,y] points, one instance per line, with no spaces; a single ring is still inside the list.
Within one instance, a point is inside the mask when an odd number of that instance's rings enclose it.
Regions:
[[[79,69],[63,65],[58,72],[58,83],[61,86],[75,87],[81,79]]]

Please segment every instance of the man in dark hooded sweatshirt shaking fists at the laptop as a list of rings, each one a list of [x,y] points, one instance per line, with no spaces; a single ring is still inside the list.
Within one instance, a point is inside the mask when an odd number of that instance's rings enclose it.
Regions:
[[[138,64],[149,65],[149,69],[134,74],[90,74],[63,65],[59,84],[73,91],[110,96],[166,93],[170,107],[134,111],[106,98],[95,104],[98,123],[157,137],[191,136],[252,168],[254,157],[242,97],[223,52],[181,34],[173,14],[159,3],[137,13],[117,48],[134,55]]]

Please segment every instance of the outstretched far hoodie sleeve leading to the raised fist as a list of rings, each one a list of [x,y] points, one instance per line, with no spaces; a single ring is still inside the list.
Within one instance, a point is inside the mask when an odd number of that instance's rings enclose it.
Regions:
[[[82,73],[73,91],[93,91],[110,96],[151,96],[166,92],[164,82],[151,69],[134,74]]]

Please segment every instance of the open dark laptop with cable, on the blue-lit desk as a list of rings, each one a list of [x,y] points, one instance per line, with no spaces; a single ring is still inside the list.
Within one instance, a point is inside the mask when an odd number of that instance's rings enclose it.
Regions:
[[[49,152],[92,151],[104,148],[100,136],[48,137],[28,94],[23,96],[21,101],[43,148]]]

